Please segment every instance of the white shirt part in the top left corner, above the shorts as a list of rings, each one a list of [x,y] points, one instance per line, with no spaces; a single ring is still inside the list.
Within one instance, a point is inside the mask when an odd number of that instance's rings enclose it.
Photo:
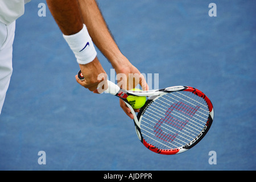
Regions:
[[[1,0],[0,22],[10,24],[24,14],[24,5],[31,0]]]

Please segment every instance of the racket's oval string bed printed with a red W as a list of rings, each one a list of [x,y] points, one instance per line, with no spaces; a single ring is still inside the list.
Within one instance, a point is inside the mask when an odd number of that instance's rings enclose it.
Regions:
[[[167,93],[146,109],[141,120],[144,140],[163,150],[191,142],[203,130],[209,115],[205,100],[191,92]]]

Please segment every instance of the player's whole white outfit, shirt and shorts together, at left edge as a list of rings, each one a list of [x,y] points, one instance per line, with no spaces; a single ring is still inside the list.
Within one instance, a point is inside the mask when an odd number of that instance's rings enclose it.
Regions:
[[[13,73],[15,20],[31,0],[0,0],[0,114]]]

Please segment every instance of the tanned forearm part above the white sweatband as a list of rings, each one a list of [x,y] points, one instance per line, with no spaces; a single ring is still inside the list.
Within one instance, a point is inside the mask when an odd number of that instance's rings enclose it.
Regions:
[[[82,29],[82,16],[77,0],[47,0],[47,5],[64,35],[73,35]]]

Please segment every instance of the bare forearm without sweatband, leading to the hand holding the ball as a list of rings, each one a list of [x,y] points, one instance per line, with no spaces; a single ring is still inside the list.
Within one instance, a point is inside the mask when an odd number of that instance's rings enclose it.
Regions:
[[[118,65],[125,64],[124,56],[115,43],[108,26],[98,9],[94,0],[78,0],[80,4],[82,18],[93,40],[93,43],[100,49],[104,56],[110,61],[114,68]]]

